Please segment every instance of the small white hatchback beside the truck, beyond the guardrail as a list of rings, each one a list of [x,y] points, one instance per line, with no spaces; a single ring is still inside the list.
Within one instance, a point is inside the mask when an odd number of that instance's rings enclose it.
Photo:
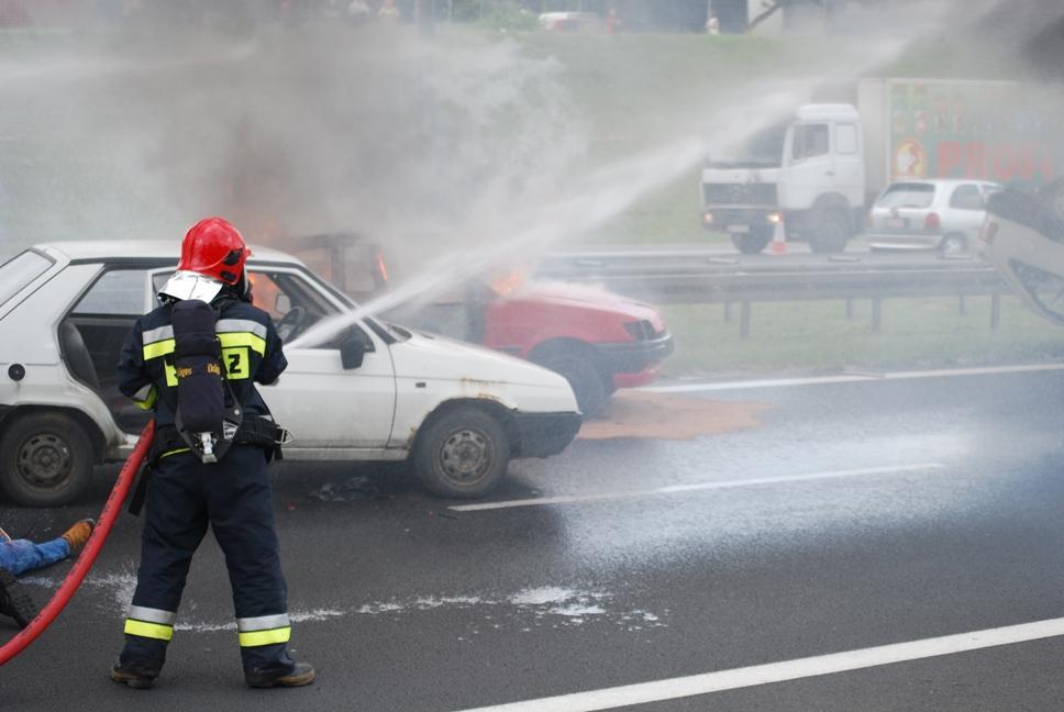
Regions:
[[[873,249],[972,251],[986,220],[987,197],[1001,186],[983,180],[905,180],[887,186],[868,211]]]

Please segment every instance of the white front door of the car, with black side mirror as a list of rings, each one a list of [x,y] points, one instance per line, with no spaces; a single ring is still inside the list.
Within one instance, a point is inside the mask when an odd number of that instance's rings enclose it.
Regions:
[[[269,313],[285,341],[342,311],[340,301],[298,267],[250,264],[248,275],[253,303]],[[351,338],[364,343],[365,356],[361,366],[345,369],[340,346]],[[359,322],[326,344],[287,348],[285,356],[288,368],[280,379],[258,388],[274,418],[296,438],[287,453],[340,459],[388,446],[396,375],[380,335]]]

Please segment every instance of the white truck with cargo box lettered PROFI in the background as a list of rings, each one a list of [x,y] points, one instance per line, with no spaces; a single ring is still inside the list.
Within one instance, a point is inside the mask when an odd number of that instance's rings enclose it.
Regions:
[[[702,170],[702,225],[756,254],[777,226],[842,251],[890,181],[973,178],[1034,187],[1056,175],[1052,97],[1007,81],[862,79],[751,136]],[[834,98],[834,97],[833,97]]]

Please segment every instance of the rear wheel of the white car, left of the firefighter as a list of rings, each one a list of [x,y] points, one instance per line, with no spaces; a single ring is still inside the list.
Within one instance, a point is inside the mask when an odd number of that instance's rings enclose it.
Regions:
[[[92,481],[92,443],[63,413],[12,415],[0,438],[0,488],[23,507],[62,507]]]

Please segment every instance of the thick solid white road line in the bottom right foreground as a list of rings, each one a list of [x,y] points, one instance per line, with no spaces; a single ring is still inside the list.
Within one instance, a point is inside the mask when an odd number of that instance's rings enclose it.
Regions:
[[[921,660],[1000,645],[1029,643],[1061,635],[1064,635],[1064,618],[956,635],[943,635],[909,643],[880,645],[845,653],[832,653],[796,660],[754,665],[718,672],[559,694],[539,700],[467,709],[463,712],[594,712],[595,710],[611,710],[633,704],[649,704],[696,694],[861,670],[895,663]]]

